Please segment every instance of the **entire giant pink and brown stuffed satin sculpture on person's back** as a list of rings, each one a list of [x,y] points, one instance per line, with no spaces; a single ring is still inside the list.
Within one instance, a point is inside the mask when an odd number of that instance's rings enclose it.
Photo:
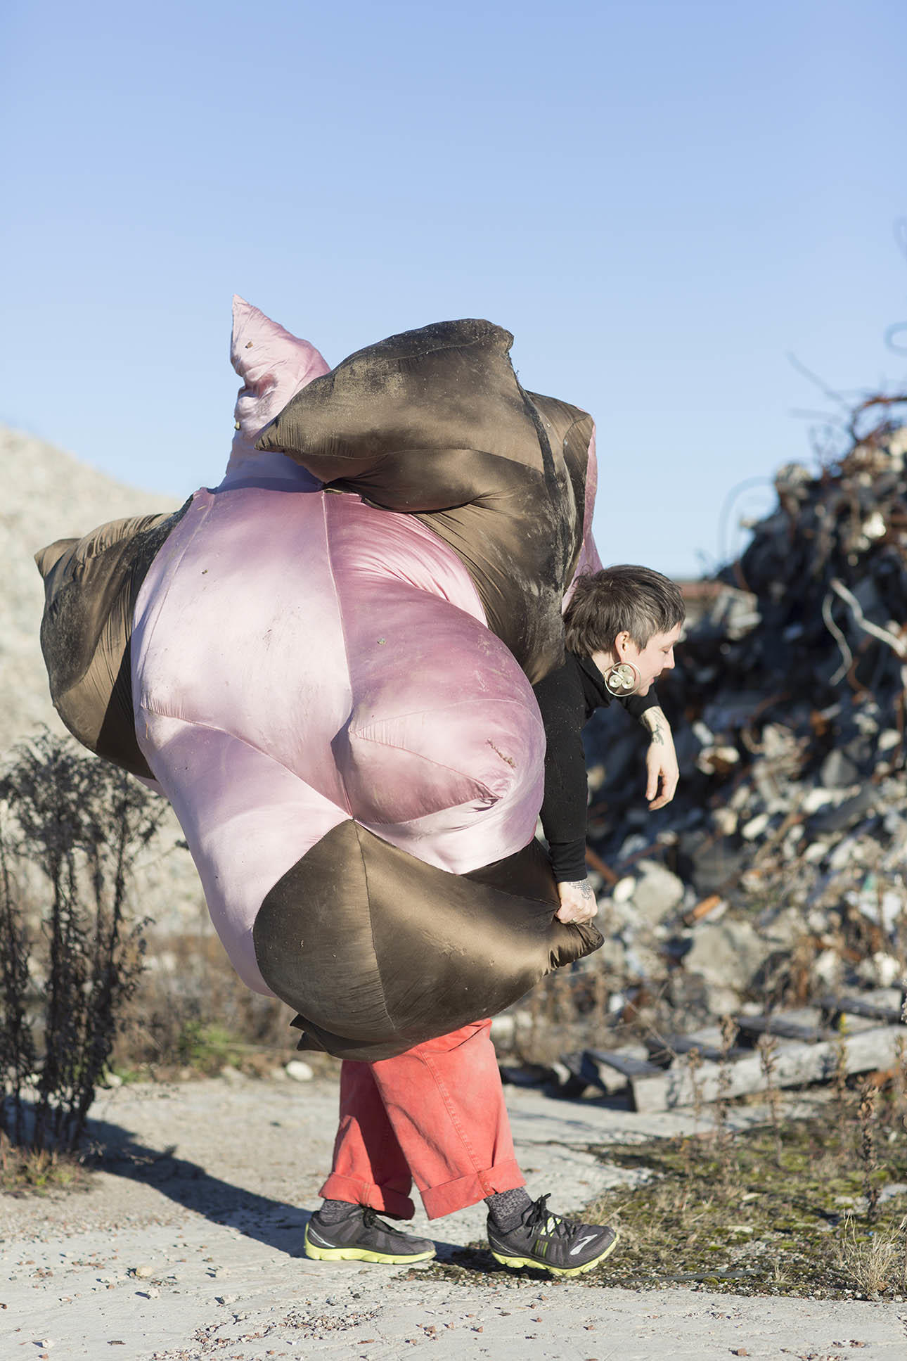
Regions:
[[[38,554],[54,702],[173,803],[245,981],[377,1060],[597,949],[533,840],[532,693],[596,566],[592,422],[454,321],[335,370],[242,299],[227,475]],[[264,433],[262,433],[264,427]]]

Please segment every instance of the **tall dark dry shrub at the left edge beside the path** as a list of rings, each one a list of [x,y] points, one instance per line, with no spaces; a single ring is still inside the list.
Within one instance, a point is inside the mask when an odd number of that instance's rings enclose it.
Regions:
[[[141,973],[126,889],[162,813],[46,731],[0,777],[0,1128],[16,1145],[61,1151],[82,1136]]]

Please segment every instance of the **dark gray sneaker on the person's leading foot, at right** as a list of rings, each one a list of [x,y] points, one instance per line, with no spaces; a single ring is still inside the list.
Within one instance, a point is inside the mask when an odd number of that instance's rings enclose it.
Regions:
[[[604,1224],[579,1224],[548,1210],[543,1195],[526,1206],[515,1229],[504,1233],[488,1217],[488,1244],[504,1267],[538,1267],[552,1275],[582,1275],[604,1262],[617,1234]]]

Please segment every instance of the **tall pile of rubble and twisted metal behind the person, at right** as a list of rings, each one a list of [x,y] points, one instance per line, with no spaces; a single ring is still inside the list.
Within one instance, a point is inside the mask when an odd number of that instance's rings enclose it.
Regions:
[[[907,947],[907,427],[776,508],[708,589],[658,682],[681,783],[650,814],[645,735],[587,728],[597,957],[620,1011],[640,991],[674,1029],[741,1003],[899,987]]]

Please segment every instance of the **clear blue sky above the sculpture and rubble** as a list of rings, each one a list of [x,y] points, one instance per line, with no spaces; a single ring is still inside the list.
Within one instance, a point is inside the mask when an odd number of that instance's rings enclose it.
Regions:
[[[442,317],[590,410],[605,561],[741,543],[907,358],[902,0],[12,0],[0,421],[182,498],[233,433],[234,291],[329,359]],[[83,527],[78,527],[83,528]]]

